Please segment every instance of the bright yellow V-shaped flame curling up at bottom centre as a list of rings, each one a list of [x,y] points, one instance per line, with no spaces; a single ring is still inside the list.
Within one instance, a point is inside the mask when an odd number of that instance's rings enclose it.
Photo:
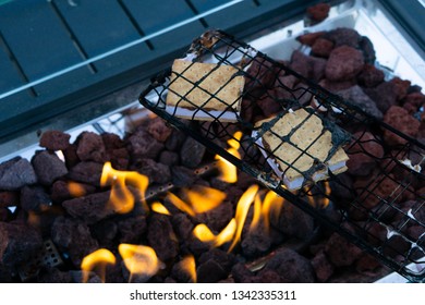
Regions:
[[[201,223],[193,229],[193,234],[199,241],[204,243],[209,243],[211,246],[219,247],[222,244],[226,244],[232,241],[234,233],[236,232],[236,220],[232,218],[228,225],[217,235],[215,235],[211,230],[205,224]]]

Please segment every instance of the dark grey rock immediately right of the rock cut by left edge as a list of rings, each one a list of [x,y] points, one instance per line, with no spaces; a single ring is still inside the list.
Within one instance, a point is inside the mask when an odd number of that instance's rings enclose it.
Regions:
[[[36,152],[32,160],[38,181],[51,185],[57,179],[68,174],[65,163],[57,155],[47,150]]]

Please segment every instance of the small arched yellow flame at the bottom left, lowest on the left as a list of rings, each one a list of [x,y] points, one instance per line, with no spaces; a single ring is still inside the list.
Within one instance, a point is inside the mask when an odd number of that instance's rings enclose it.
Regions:
[[[117,261],[116,256],[106,248],[99,248],[86,257],[81,263],[81,269],[83,270],[83,282],[88,281],[89,272],[96,270],[100,280],[105,283],[106,266],[114,265]]]

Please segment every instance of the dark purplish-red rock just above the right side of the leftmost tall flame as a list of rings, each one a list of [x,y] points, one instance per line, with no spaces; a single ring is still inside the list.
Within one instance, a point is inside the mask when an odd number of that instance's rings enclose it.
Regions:
[[[163,143],[158,142],[145,130],[137,130],[129,137],[129,151],[134,159],[150,158],[155,159],[163,149]]]

